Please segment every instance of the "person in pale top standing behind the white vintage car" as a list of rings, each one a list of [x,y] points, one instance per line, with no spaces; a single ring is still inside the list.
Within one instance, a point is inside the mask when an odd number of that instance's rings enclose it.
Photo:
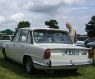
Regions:
[[[71,22],[66,22],[66,27],[69,30],[69,35],[71,37],[72,42],[76,43],[76,41],[77,41],[77,34],[76,34],[76,30],[72,27]]]

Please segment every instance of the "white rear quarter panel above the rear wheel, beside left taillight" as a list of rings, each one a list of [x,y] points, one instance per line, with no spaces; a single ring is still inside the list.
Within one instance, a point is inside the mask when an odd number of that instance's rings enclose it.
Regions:
[[[21,55],[21,62],[23,61],[23,56],[24,55],[28,55],[28,56],[31,56],[33,62],[36,62],[36,63],[43,63],[44,60],[43,60],[43,56],[44,56],[44,52],[45,52],[45,49],[44,48],[41,48],[41,47],[38,47],[38,46],[35,46],[33,44],[25,44],[25,48],[23,49],[23,55]]]

